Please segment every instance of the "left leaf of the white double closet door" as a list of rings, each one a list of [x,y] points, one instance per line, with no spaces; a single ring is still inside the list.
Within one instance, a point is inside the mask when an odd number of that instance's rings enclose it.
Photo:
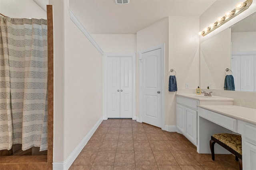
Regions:
[[[107,59],[107,114],[109,118],[120,117],[120,57]]]

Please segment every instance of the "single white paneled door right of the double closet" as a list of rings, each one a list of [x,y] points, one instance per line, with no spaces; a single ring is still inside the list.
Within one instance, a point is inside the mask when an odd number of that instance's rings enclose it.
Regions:
[[[142,122],[161,127],[161,49],[141,56]]]

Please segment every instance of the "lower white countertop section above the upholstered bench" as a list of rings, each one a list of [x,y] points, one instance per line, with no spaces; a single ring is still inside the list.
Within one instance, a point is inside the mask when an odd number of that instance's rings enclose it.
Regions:
[[[256,125],[256,109],[235,105],[198,105],[198,107]]]

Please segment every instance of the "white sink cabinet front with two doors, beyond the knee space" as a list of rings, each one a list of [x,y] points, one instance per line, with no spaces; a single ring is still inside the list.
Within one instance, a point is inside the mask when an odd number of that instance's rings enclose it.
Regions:
[[[197,145],[197,104],[198,100],[177,96],[177,132]]]

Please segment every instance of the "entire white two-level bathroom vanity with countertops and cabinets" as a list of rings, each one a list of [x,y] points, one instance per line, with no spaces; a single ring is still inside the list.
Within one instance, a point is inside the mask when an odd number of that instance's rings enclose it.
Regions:
[[[197,147],[198,153],[210,154],[209,141],[215,133],[242,136],[243,169],[256,169],[256,109],[234,106],[232,98],[176,94],[177,132]],[[229,154],[219,145],[216,154]]]

